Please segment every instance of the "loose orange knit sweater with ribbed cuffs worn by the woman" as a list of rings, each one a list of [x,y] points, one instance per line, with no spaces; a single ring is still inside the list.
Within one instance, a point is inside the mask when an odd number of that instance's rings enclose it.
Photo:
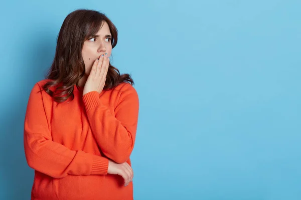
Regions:
[[[138,95],[129,83],[56,103],[37,82],[24,123],[27,162],[35,169],[31,199],[133,199],[130,182],[107,174],[108,158],[130,164],[138,119]],[[53,88],[50,88],[54,90]]]

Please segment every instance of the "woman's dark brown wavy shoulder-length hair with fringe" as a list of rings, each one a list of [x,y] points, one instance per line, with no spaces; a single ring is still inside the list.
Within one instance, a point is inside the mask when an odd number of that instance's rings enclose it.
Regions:
[[[73,100],[74,85],[79,88],[78,81],[85,75],[85,63],[82,57],[84,41],[95,35],[102,24],[107,22],[112,34],[111,44],[117,44],[117,28],[112,21],[101,12],[90,9],[77,9],[69,13],[60,29],[55,57],[46,75],[50,79],[43,89],[58,103],[69,97]],[[104,90],[112,89],[121,82],[134,84],[130,74],[121,74],[109,63]],[[50,87],[55,86],[55,90]]]

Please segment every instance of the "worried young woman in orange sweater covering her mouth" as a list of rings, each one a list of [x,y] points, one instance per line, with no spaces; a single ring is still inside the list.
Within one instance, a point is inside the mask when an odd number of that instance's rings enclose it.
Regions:
[[[65,18],[53,64],[27,105],[31,199],[133,199],[139,101],[130,75],[110,64],[116,43],[103,13],[79,9]]]

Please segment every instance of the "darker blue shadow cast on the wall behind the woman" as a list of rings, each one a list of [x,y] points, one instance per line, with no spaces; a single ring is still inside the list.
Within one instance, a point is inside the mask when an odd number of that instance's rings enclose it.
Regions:
[[[15,88],[7,90],[10,92],[5,95],[1,114],[0,171],[2,191],[5,191],[1,194],[3,199],[30,199],[34,170],[28,166],[24,153],[25,112],[31,89],[37,81],[45,78],[56,47],[57,35],[42,29],[30,31],[30,38],[23,38],[28,43],[21,46],[24,48],[22,52],[25,52],[19,57],[22,62],[16,66],[20,77],[14,80],[17,81]]]

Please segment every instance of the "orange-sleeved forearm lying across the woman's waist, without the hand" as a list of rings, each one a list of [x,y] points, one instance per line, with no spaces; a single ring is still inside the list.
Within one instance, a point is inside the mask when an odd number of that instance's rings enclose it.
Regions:
[[[107,174],[107,158],[81,150],[70,150],[41,134],[25,131],[24,147],[28,165],[54,178],[68,174]]]

